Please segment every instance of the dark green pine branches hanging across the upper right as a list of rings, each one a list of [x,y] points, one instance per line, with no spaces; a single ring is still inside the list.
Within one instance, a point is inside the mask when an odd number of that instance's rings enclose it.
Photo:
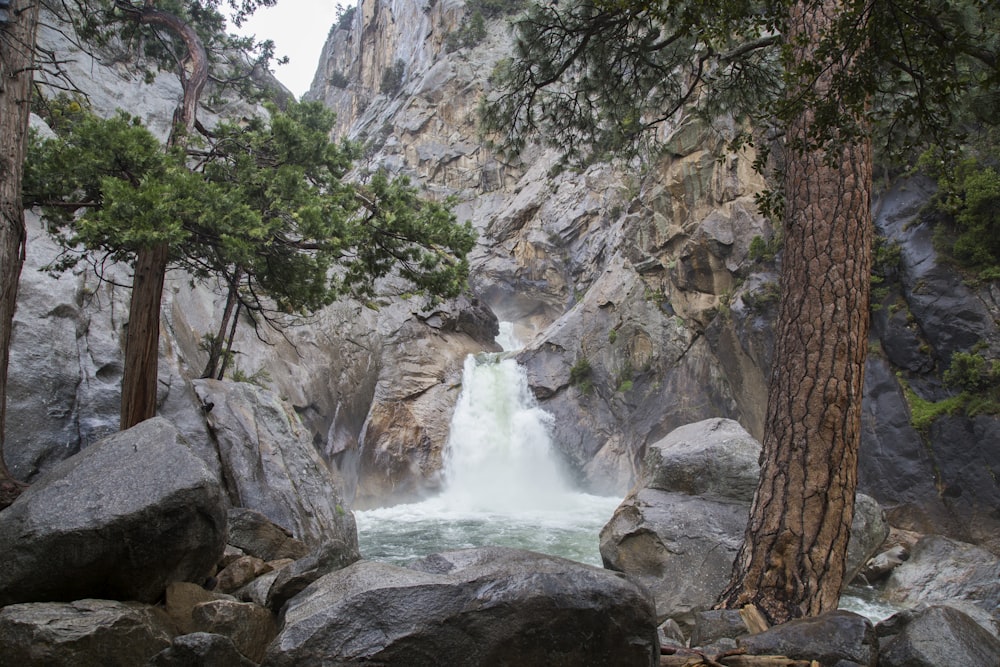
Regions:
[[[787,149],[835,155],[868,136],[871,122],[877,144],[911,154],[955,146],[973,107],[988,109],[998,96],[996,3],[913,0],[905,11],[844,3],[802,61],[783,39],[788,8],[784,0],[539,2],[515,22],[514,55],[494,72],[484,128],[511,153],[537,135],[588,158],[638,150],[681,110],[734,116],[758,136],[809,110],[806,136]],[[808,85],[829,67],[839,69],[829,90]],[[755,148],[766,154],[766,142]],[[761,203],[780,216],[780,192]]]

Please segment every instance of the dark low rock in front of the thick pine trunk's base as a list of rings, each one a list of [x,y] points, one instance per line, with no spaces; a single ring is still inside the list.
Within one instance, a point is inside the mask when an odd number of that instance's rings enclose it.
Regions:
[[[751,655],[787,655],[816,660],[821,667],[875,667],[878,638],[864,616],[832,611],[800,618],[737,640]]]

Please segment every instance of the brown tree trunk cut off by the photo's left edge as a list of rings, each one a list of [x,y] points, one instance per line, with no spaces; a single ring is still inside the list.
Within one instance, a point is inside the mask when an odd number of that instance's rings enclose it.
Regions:
[[[31,111],[38,3],[14,0],[9,18],[11,22],[0,23],[0,509],[13,502],[23,488],[7,469],[3,442],[14,309],[28,236],[21,181]]]

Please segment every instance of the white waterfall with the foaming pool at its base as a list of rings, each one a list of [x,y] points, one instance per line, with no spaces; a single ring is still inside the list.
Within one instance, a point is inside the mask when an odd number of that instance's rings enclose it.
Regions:
[[[520,347],[509,323],[497,342],[505,350]],[[551,423],[514,359],[468,357],[443,491],[420,503],[355,512],[362,554],[406,562],[503,545],[599,565],[598,533],[621,499],[572,488],[553,451]]]

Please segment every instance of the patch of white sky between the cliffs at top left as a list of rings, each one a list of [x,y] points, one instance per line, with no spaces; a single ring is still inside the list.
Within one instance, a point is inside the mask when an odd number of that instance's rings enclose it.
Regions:
[[[353,4],[340,0],[341,4]],[[274,65],[274,75],[296,98],[309,90],[323,43],[337,17],[337,0],[278,0],[274,7],[258,9],[241,28],[240,35],[274,41],[275,55],[288,56],[287,65]]]

